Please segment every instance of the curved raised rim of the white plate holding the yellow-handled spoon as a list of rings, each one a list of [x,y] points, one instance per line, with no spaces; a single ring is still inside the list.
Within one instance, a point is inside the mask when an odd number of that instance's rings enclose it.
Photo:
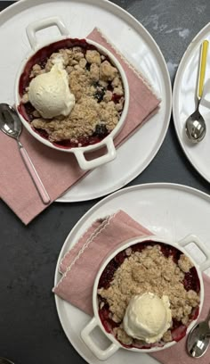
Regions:
[[[178,100],[179,100],[179,83],[180,83],[182,71],[183,71],[185,63],[187,61],[187,58],[191,52],[191,49],[194,47],[194,45],[197,45],[198,42],[201,41],[201,38],[203,38],[205,36],[206,32],[210,30],[209,28],[210,28],[210,22],[208,22],[204,28],[199,30],[198,34],[192,39],[192,41],[190,42],[190,45],[188,45],[187,49],[185,50],[184,54],[182,55],[182,59],[179,64],[179,67],[176,71],[176,75],[175,75],[175,79],[174,79],[173,96],[172,96],[172,114],[173,114],[174,128],[176,131],[176,136],[179,140],[180,145],[182,146],[183,153],[186,155],[186,157],[188,158],[192,167],[195,170],[197,170],[197,168],[193,164],[193,161],[191,160],[189,153],[185,150],[184,143],[182,142],[182,137],[179,134],[178,121],[177,121],[179,119],[179,115],[178,115],[178,111],[176,110],[176,104],[178,103]],[[207,182],[210,182],[210,178],[208,178],[204,173],[201,173],[199,170],[197,170],[197,171],[200,176],[202,176],[203,178],[206,179]]]

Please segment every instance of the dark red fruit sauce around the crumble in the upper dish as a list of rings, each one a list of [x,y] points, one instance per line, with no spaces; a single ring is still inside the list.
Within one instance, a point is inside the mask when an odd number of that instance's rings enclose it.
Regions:
[[[30,72],[35,64],[39,64],[42,69],[44,69],[45,64],[48,60],[48,58],[51,56],[52,53],[58,52],[61,48],[71,48],[73,46],[80,46],[84,52],[86,53],[87,50],[98,50],[97,47],[94,45],[90,45],[86,42],[85,39],[62,39],[58,42],[54,42],[51,45],[46,45],[43,48],[41,48],[39,51],[36,52],[36,54],[32,55],[32,57],[28,60],[21,76],[20,76],[20,83],[19,83],[19,94],[20,97],[24,95],[26,91],[26,87],[28,87],[29,82],[31,81],[31,78],[29,78]],[[109,62],[109,58],[105,56],[105,59],[107,59]],[[109,89],[113,90],[113,87],[111,84],[109,85]],[[115,103],[118,103],[120,96],[113,95],[112,101]],[[35,111],[35,108],[32,106],[31,103],[20,103],[18,106],[18,111],[20,112],[20,115],[30,123],[34,117],[33,112]],[[44,130],[32,128],[39,136],[44,137],[44,139],[48,139],[48,135]],[[90,137],[80,137],[78,138],[78,143],[71,142],[70,140],[62,140],[61,142],[52,143],[52,145],[55,145],[59,148],[74,148],[79,146],[87,146],[87,145],[94,145],[96,143],[101,142],[104,137],[108,136],[109,132],[108,130],[105,130],[103,133],[94,133],[93,136]]]

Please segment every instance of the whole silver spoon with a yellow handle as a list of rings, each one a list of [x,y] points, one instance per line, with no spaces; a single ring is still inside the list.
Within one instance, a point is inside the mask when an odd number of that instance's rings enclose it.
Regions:
[[[208,41],[205,40],[201,47],[201,60],[198,72],[198,103],[196,111],[193,112],[185,122],[186,136],[192,143],[201,142],[206,136],[206,122],[199,112],[199,104],[203,95],[204,79],[206,73],[206,57],[207,57]]]

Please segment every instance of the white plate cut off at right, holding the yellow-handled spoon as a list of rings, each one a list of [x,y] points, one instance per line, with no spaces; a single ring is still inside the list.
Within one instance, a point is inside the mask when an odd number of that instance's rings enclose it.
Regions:
[[[189,115],[195,111],[197,95],[198,61],[200,45],[204,39],[210,40],[210,23],[192,40],[182,57],[174,80],[173,115],[174,126],[182,149],[201,176],[210,182],[210,47],[206,64],[206,83],[203,100],[199,111],[206,120],[206,136],[199,144],[188,141],[184,124]]]

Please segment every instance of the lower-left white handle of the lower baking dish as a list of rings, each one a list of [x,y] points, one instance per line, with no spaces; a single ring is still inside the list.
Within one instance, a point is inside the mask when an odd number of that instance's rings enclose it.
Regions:
[[[117,350],[119,349],[119,345],[117,345],[117,343],[111,343],[109,347],[105,350],[102,350],[99,346],[97,346],[97,344],[93,342],[93,339],[91,337],[93,329],[97,326],[99,326],[97,319],[92,318],[87,326],[81,331],[81,337],[87,347],[99,360],[107,360],[111,355],[117,352]]]

